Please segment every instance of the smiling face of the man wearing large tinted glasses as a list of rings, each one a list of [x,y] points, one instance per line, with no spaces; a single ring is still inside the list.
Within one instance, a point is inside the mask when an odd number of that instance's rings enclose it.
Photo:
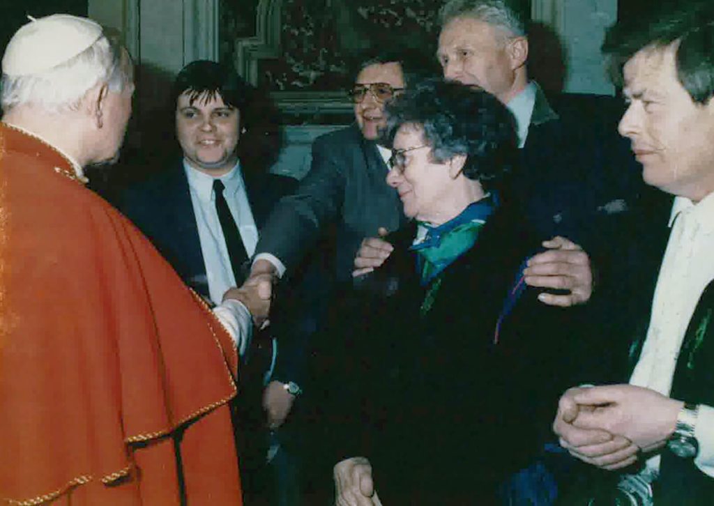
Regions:
[[[401,65],[396,62],[366,66],[357,75],[356,85],[387,84],[394,89],[404,88],[404,76]],[[385,101],[377,98],[373,91],[367,91],[361,101],[355,102],[354,111],[362,135],[367,139],[376,139],[379,129],[386,125],[384,113]]]

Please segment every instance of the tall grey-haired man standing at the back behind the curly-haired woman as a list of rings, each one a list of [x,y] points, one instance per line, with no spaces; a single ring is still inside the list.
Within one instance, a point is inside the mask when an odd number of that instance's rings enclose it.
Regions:
[[[538,286],[545,281],[546,260],[560,256],[566,265],[582,260],[558,249],[579,249],[578,243],[597,255],[603,216],[607,221],[608,214],[625,211],[641,187],[633,158],[614,133],[613,100],[546,98],[528,79],[526,21],[513,1],[451,0],[440,18],[437,57],[444,77],[488,91],[516,118],[522,163],[513,196],[540,235],[570,239],[551,241],[556,251],[534,259],[526,281]],[[587,299],[582,295],[544,293],[543,298],[577,303]]]

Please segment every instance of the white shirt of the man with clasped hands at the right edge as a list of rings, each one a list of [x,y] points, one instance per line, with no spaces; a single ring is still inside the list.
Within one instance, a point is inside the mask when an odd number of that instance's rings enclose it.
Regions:
[[[670,394],[689,320],[704,288],[714,280],[714,193],[696,205],[688,198],[675,198],[669,226],[672,231],[657,278],[647,337],[630,378],[630,384],[663,395]],[[714,477],[714,408],[700,406],[695,432],[699,442],[695,465]],[[656,472],[659,464],[658,455],[647,461],[650,472]]]

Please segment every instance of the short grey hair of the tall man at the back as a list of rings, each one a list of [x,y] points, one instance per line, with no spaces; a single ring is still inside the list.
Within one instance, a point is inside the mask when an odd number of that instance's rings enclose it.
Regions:
[[[496,26],[510,36],[526,35],[526,24],[516,9],[503,0],[449,0],[439,11],[441,26],[457,17],[471,17]]]

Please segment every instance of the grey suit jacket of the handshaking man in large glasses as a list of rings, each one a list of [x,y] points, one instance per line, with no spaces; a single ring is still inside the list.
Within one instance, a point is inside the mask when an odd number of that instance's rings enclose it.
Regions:
[[[256,253],[272,253],[295,268],[318,238],[335,234],[335,272],[348,278],[361,240],[379,227],[396,231],[404,220],[401,201],[387,186],[387,167],[376,143],[358,126],[326,133],[313,143],[311,170],[283,197],[266,221]]]

